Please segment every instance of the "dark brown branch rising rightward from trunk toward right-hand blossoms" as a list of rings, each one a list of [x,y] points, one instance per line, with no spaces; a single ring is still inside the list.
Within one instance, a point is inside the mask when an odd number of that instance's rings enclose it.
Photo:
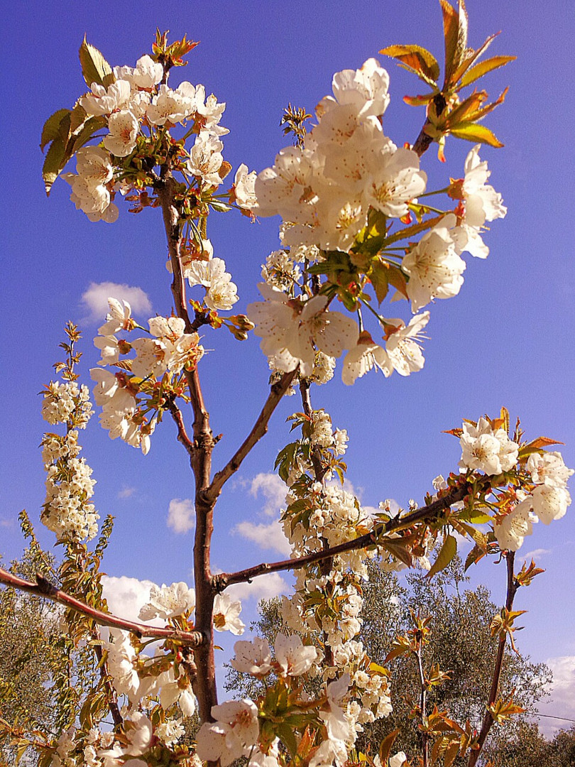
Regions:
[[[340,543],[331,548],[325,548],[322,551],[314,551],[313,554],[307,554],[304,557],[284,559],[272,564],[264,562],[261,565],[255,565],[253,568],[247,568],[235,573],[219,573],[214,576],[215,587],[218,591],[223,591],[234,583],[245,583],[246,581],[251,581],[252,578],[257,578],[258,575],[265,575],[281,570],[297,570],[306,567],[307,565],[313,565],[314,562],[320,562],[324,559],[343,554],[345,551],[355,551],[358,548],[375,546],[382,535],[386,535],[386,533],[395,530],[409,528],[411,525],[420,522],[422,519],[439,515],[439,513],[445,511],[445,509],[449,509],[452,504],[462,501],[470,491],[471,484],[469,482],[464,482],[462,485],[453,488],[445,493],[442,498],[433,501],[428,506],[422,506],[420,509],[416,509],[416,511],[411,512],[404,517],[396,517],[382,525],[377,525],[372,532],[368,532],[366,535],[360,535],[358,538],[353,538],[351,541]]]

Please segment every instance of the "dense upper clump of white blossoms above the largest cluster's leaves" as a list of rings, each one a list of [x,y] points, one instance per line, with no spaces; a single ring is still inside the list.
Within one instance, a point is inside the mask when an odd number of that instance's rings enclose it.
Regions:
[[[371,58],[357,71],[334,75],[334,96],[316,108],[317,126],[303,147],[288,147],[255,182],[258,213],[280,214],[291,225],[285,245],[347,250],[366,225],[370,208],[386,216],[408,212],[426,188],[412,150],[384,135],[389,76]]]

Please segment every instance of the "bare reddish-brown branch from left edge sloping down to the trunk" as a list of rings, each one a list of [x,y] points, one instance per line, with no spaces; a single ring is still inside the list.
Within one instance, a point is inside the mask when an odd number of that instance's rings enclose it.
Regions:
[[[146,624],[136,623],[135,621],[126,621],[111,613],[103,613],[89,607],[84,602],[71,597],[60,588],[43,578],[36,576],[36,583],[25,581],[24,578],[18,578],[7,570],[0,568],[0,583],[11,588],[17,588],[18,591],[28,591],[28,594],[35,594],[37,597],[44,597],[53,602],[64,604],[70,610],[74,610],[81,615],[91,618],[100,626],[109,626],[110,628],[120,628],[124,631],[131,631],[137,637],[152,637],[153,639],[172,639],[182,644],[189,644],[191,647],[201,647],[205,644],[205,636],[200,631],[180,631],[172,628],[160,628],[159,626],[146,626]]]

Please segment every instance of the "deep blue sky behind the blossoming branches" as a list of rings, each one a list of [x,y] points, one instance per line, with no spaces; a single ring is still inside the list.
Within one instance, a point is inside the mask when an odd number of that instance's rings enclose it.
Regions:
[[[431,479],[455,469],[459,459],[457,441],[442,430],[458,426],[462,417],[494,415],[502,404],[512,417],[521,417],[528,436],[545,434],[564,442],[566,463],[575,466],[570,139],[575,73],[572,61],[561,52],[571,50],[573,7],[560,0],[552,7],[535,0],[508,0],[505,5],[468,0],[468,12],[471,45],[478,47],[501,30],[492,54],[517,55],[516,62],[486,81],[492,96],[510,86],[505,104],[488,118],[505,147],[481,151],[508,216],[494,222],[485,236],[491,249],[487,261],[468,259],[458,297],[432,307],[422,372],[408,379],[367,376],[352,389],[334,382],[315,394],[314,406],[325,407],[334,425],[350,434],[348,476],[366,505],[376,506],[386,498],[404,504],[409,498],[422,499]],[[44,196],[41,126],[54,110],[71,107],[84,92],[77,64],[84,33],[111,64],[132,66],[149,51],[156,26],[169,29],[172,39],[186,32],[200,40],[190,64],[176,71],[173,81],[202,83],[227,103],[222,124],[231,132],[224,139],[225,158],[234,167],[245,162],[255,170],[270,165],[284,146],[278,123],[288,102],[313,110],[330,91],[334,71],[359,67],[389,44],[416,42],[441,61],[442,35],[435,0],[105,0],[97,5],[34,0],[11,4],[5,13],[11,49],[2,78],[5,438],[0,459],[5,482],[0,551],[9,558],[21,551],[16,515],[26,508],[31,518],[38,518],[44,500],[37,449],[44,424],[37,393],[50,378],[64,322],[73,319],[84,331],[87,380],[87,369],[98,359],[91,338],[100,324],[82,300],[91,284],[110,281],[140,288],[152,308],[150,314],[140,314],[141,320],[171,308],[166,245],[157,212],[132,216],[123,209],[114,225],[91,224],[69,202],[64,182],[56,183],[49,200]],[[398,144],[413,141],[423,115],[403,104],[402,97],[420,92],[419,83],[393,62],[385,65],[392,97],[386,133]],[[446,174],[462,175],[470,148],[451,140],[447,166],[438,167],[431,150],[423,167],[444,186]],[[262,219],[251,224],[233,214],[215,216],[209,236],[215,255],[225,258],[238,284],[241,300],[236,308],[245,310],[258,296],[261,263],[278,246],[277,222]],[[206,331],[204,345],[214,350],[202,360],[212,427],[224,435],[215,452],[217,469],[243,439],[265,400],[267,364],[255,338],[239,344],[227,333]],[[241,568],[280,556],[258,548],[239,532],[228,532],[242,522],[244,533],[246,522],[273,522],[265,512],[267,503],[273,505],[273,480],[256,482],[258,494],[251,489],[258,475],[271,472],[274,456],[287,439],[284,420],[298,409],[294,399],[281,403],[270,433],[218,505],[216,566]],[[167,525],[170,503],[172,515],[178,509],[185,512],[193,492],[186,453],[176,444],[172,424],[166,421],[156,431],[146,457],[119,441],[110,442],[96,419],[82,437],[98,482],[95,501],[100,515],[111,512],[117,517],[107,572],[160,583],[189,580],[192,533],[177,533]],[[252,535],[257,536],[253,528]],[[44,532],[41,539],[49,545]],[[521,649],[534,660],[570,659],[563,663],[564,673],[573,673],[575,667],[573,545],[571,510],[549,528],[537,525],[520,552],[540,550],[537,561],[547,569],[517,597],[517,609],[529,611],[519,637]],[[488,581],[494,597],[501,598],[500,570],[481,563],[473,581]],[[269,591],[279,585],[275,581]],[[259,591],[262,588],[263,582]],[[557,699],[556,713],[575,718],[575,704],[567,693],[563,697]]]

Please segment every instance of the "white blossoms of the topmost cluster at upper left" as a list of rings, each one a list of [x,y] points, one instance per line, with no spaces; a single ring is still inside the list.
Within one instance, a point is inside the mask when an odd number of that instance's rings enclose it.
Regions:
[[[169,131],[190,123],[186,137],[192,134],[189,150],[179,145],[177,170],[191,183],[195,193],[211,196],[229,171],[222,155],[221,137],[228,129],[220,125],[225,104],[212,94],[206,98],[203,85],[187,81],[171,88],[167,73],[158,61],[143,56],[136,67],[113,67],[110,84],[94,82],[90,92],[79,100],[85,121],[107,129],[98,146],[82,146],[76,151],[76,173],[63,178],[71,185],[72,202],[90,221],[113,222],[118,207],[113,202],[118,192],[133,191],[140,198],[142,163],[166,142],[172,145]],[[155,163],[154,163],[155,164]],[[149,179],[153,182],[153,178]],[[240,166],[235,183],[227,193],[230,204],[251,212],[255,208],[255,173]],[[146,203],[147,204],[147,203]]]

